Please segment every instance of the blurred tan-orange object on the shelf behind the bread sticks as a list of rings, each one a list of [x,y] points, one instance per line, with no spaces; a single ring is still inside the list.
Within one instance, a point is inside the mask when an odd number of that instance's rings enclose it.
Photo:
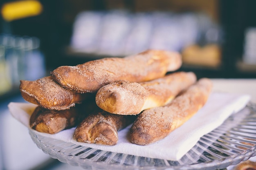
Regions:
[[[221,50],[218,44],[205,46],[191,45],[182,51],[182,62],[185,64],[216,67],[221,63]]]

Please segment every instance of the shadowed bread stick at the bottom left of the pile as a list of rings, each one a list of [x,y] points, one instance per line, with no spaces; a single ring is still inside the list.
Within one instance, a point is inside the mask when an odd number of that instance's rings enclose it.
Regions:
[[[67,110],[49,110],[37,106],[29,119],[29,124],[38,132],[55,134],[79,124],[87,116],[83,110],[88,107],[78,104]]]

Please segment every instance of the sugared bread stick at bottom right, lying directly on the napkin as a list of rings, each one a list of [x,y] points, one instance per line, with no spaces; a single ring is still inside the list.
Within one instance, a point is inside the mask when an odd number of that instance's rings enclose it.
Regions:
[[[202,78],[166,106],[144,110],[130,128],[130,141],[148,145],[163,139],[204,106],[211,88],[210,79]]]

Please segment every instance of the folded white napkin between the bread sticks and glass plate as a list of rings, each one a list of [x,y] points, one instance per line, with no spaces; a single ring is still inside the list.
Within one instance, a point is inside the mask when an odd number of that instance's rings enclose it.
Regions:
[[[148,146],[139,146],[129,142],[127,134],[130,126],[118,132],[119,141],[115,146],[79,143],[73,137],[75,128],[63,130],[54,135],[35,132],[45,137],[99,150],[177,161],[197,143],[200,137],[220,126],[231,114],[243,109],[249,100],[249,95],[214,92],[198,113],[185,124],[171,132],[166,138]],[[8,107],[13,117],[30,128],[29,117],[36,105],[11,102]]]

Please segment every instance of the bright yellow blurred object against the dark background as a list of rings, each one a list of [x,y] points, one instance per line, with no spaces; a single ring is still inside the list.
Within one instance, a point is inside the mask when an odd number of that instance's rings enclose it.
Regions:
[[[42,10],[42,4],[37,0],[20,0],[5,3],[2,6],[1,13],[4,20],[12,21],[39,15]]]

